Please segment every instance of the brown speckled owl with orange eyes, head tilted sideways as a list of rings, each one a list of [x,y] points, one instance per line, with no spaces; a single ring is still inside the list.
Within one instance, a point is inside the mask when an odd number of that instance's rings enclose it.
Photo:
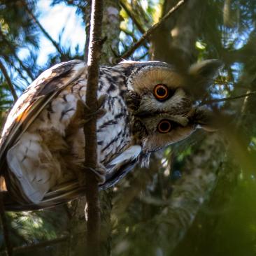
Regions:
[[[220,68],[218,60],[187,71],[164,62],[101,66],[97,97],[99,189],[115,185],[150,154],[211,129],[211,113],[194,104]],[[8,114],[0,141],[7,210],[45,208],[85,194],[87,65],[63,62],[34,80]],[[87,106],[90,107],[90,106]]]

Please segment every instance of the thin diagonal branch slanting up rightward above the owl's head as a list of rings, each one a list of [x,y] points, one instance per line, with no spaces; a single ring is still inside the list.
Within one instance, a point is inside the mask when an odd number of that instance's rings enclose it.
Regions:
[[[168,13],[166,13],[166,15],[164,15],[164,17],[162,17],[161,20],[159,20],[159,22],[157,22],[156,24],[152,25],[152,27],[150,27],[147,31],[145,31],[145,33],[141,36],[140,39],[138,39],[138,41],[131,46],[131,48],[129,48],[129,50],[127,50],[127,52],[125,52],[122,56],[119,57],[117,62],[120,62],[120,60],[122,59],[126,59],[127,57],[130,57],[132,55],[132,53],[134,52],[134,50],[136,50],[138,47],[140,47],[143,42],[148,39],[148,37],[152,34],[152,32],[154,32],[160,25],[162,25],[166,19],[168,19],[170,17],[171,14],[175,13],[176,10],[178,10],[178,8],[180,8],[180,6],[183,6],[183,4],[188,1],[188,0],[180,0],[176,6],[174,6],[173,8],[171,8],[169,10]]]

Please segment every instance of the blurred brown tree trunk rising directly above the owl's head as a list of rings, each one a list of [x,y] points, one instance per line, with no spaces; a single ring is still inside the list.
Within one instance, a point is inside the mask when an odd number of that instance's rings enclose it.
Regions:
[[[163,15],[177,2],[166,0]],[[151,58],[187,69],[197,59],[194,45],[205,6],[205,1],[190,0],[171,15],[152,36]]]

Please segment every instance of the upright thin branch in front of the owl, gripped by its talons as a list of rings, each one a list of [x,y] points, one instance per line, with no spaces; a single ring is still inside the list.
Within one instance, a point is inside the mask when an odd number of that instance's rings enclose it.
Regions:
[[[97,168],[97,90],[99,83],[99,60],[102,40],[101,26],[103,17],[103,0],[92,0],[90,24],[90,43],[88,52],[88,78],[86,89],[85,113],[90,120],[84,126],[85,131],[85,194],[87,199],[87,255],[99,255],[99,185],[90,169]]]

